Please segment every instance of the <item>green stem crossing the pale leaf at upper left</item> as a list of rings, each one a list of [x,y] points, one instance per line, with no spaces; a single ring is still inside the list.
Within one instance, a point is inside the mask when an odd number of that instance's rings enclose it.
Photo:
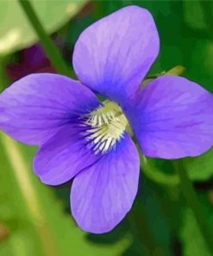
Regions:
[[[39,20],[39,17],[34,12],[34,8],[28,0],[18,0],[20,5],[22,6],[22,10],[25,12],[26,16],[28,17],[28,21],[31,23],[32,27],[34,28],[35,33],[41,40],[41,45],[47,53],[48,58],[52,62],[53,66],[55,67],[56,71],[60,74],[65,74],[67,76],[72,75],[72,70],[68,69],[66,66],[66,62],[62,58],[58,48],[54,45],[52,39],[47,32],[45,31],[44,27]]]

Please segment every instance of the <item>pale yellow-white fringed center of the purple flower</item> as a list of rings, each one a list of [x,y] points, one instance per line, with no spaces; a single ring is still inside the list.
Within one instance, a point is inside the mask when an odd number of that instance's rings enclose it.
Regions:
[[[107,152],[123,137],[128,120],[114,102],[106,102],[84,117],[84,135],[95,154]]]

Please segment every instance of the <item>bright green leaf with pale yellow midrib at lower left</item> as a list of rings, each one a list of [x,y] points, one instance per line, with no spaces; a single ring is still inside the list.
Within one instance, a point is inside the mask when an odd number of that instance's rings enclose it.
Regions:
[[[9,237],[0,243],[0,255],[114,256],[125,250],[129,236],[110,246],[86,240],[87,234],[56,200],[56,188],[34,176],[31,166],[36,149],[17,144],[3,133],[0,139],[0,221],[9,228]]]

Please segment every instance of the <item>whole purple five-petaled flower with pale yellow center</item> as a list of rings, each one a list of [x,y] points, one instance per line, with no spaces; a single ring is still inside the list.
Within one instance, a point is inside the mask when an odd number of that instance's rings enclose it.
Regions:
[[[40,146],[34,172],[41,181],[74,177],[72,214],[85,231],[109,232],[132,207],[140,159],[128,124],[148,157],[197,156],[213,144],[213,96],[204,88],[161,76],[140,89],[159,47],[150,13],[128,6],[79,36],[73,66],[80,81],[31,74],[0,96],[3,131]]]

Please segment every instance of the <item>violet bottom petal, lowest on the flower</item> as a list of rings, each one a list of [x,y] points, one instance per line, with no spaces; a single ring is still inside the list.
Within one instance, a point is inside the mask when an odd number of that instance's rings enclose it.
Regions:
[[[97,163],[72,183],[71,207],[86,232],[109,232],[128,213],[138,189],[140,160],[135,144],[125,135]]]

